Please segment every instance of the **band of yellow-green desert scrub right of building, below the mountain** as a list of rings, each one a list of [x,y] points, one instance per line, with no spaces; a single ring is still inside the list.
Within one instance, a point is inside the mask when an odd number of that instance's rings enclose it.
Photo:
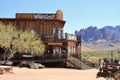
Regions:
[[[93,62],[94,64],[96,64],[95,66],[98,67],[99,59],[102,60],[104,58],[120,59],[120,54],[116,51],[93,51],[93,52],[83,52],[81,54],[81,57],[82,59],[86,59],[88,61]]]

